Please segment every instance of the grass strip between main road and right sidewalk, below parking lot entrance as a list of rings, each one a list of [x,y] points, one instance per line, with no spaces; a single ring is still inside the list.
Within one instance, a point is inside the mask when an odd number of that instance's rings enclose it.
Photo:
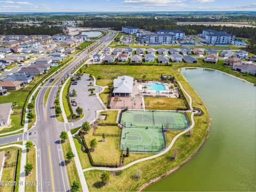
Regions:
[[[69,150],[71,150],[69,140],[67,139],[66,142],[62,142],[61,145],[62,145],[63,155],[66,159],[66,154],[68,153]],[[79,176],[78,176],[78,172],[77,172],[77,169],[76,169],[76,164],[75,164],[75,159],[74,158],[71,160],[70,163],[66,163],[66,170],[67,170],[67,173],[68,173],[68,180],[69,180],[69,185],[70,186],[72,185],[72,183],[74,181],[80,183],[80,179],[79,179]]]

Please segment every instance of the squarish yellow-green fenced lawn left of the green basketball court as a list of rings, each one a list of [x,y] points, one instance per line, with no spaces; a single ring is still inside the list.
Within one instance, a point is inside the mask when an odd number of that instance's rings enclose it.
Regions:
[[[91,152],[91,156],[95,163],[119,163],[121,156],[121,149],[119,148],[120,137],[106,137],[105,142],[102,141],[101,136],[92,135],[93,130],[84,135],[85,142],[90,147],[90,142],[96,139],[98,142],[95,151]]]

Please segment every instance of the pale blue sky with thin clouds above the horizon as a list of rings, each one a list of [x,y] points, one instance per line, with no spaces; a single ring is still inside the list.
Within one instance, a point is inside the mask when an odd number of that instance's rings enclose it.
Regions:
[[[0,1],[0,12],[256,11],[255,0]]]

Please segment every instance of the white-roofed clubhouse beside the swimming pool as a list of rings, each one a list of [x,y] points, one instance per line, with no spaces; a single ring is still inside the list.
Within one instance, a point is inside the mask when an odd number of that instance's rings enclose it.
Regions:
[[[114,95],[130,96],[133,90],[133,77],[119,76],[113,81]]]

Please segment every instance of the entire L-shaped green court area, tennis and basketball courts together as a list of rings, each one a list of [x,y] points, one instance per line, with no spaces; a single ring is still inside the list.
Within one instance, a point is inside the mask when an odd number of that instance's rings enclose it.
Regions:
[[[189,126],[185,114],[163,111],[125,111],[120,148],[131,151],[159,152],[165,148],[164,129],[182,130]]]

